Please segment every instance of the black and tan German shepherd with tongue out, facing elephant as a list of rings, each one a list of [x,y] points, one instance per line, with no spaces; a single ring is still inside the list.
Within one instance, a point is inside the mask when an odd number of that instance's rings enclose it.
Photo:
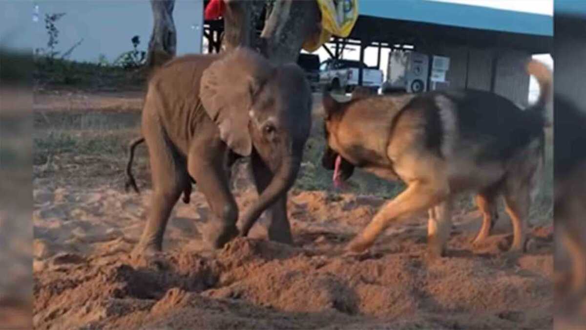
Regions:
[[[529,207],[543,169],[544,107],[552,85],[543,64],[529,62],[527,71],[539,82],[540,96],[525,110],[481,90],[388,96],[358,92],[344,103],[324,93],[322,165],[334,170],[335,183],[359,167],[407,184],[347,249],[363,251],[393,221],[428,210],[428,253],[444,255],[453,197],[472,191],[483,213],[474,243],[489,235],[496,198],[503,196],[514,231],[509,252],[524,251]]]

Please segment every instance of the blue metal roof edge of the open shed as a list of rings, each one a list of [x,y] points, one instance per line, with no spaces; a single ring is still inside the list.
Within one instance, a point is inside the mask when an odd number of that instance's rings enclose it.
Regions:
[[[553,17],[548,15],[428,0],[361,0],[358,8],[360,15],[378,18],[553,36]]]

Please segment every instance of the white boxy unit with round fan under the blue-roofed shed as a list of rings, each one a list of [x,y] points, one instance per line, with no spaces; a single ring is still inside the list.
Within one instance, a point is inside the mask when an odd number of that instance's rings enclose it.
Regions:
[[[383,90],[403,90],[421,93],[427,90],[429,56],[411,50],[391,50],[387,67],[387,82]]]

